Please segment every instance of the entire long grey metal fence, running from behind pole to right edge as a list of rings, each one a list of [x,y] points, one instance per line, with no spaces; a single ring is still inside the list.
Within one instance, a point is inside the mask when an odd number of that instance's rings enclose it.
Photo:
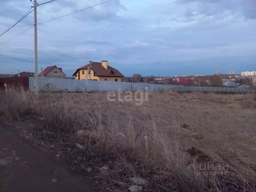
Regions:
[[[29,89],[34,91],[34,78],[29,77]],[[194,87],[178,85],[160,85],[150,83],[130,83],[114,81],[89,81],[74,79],[38,78],[39,90],[63,91],[213,91],[256,93],[255,89],[236,89],[224,87]]]

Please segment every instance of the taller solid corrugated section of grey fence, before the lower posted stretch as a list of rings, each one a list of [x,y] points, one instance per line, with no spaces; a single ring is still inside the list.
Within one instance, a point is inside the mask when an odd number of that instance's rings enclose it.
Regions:
[[[29,78],[29,89],[34,91],[34,78]],[[74,79],[38,78],[38,90],[63,91],[159,91],[170,90],[176,85],[129,83],[115,81],[90,81]],[[182,86],[179,86],[182,87]]]

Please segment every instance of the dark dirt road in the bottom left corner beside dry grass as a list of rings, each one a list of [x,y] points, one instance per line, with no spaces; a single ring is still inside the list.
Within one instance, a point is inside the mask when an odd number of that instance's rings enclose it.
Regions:
[[[56,162],[0,123],[0,191],[95,191],[82,176]]]

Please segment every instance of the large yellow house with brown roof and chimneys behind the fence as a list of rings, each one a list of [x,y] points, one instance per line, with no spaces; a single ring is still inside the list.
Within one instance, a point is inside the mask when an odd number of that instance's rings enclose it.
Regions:
[[[95,80],[95,81],[118,81],[121,82],[121,78],[124,77],[117,69],[108,66],[108,61],[92,62],[88,65],[80,67],[73,74],[75,79],[84,79],[84,80]],[[89,65],[91,65],[91,70],[89,71],[88,78],[86,79],[86,74]]]

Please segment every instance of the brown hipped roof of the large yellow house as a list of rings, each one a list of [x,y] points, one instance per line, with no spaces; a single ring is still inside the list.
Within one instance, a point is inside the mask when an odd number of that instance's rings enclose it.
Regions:
[[[110,67],[108,65],[108,70],[106,70],[101,63],[98,62],[92,62],[91,63],[92,70],[98,75],[98,76],[111,76],[111,77],[124,77],[122,73],[120,73],[117,69]],[[76,76],[77,72],[81,69],[88,69],[89,64],[85,65],[83,67],[80,67],[79,69],[74,72],[72,76]],[[109,74],[111,71],[113,71],[114,74]]]

